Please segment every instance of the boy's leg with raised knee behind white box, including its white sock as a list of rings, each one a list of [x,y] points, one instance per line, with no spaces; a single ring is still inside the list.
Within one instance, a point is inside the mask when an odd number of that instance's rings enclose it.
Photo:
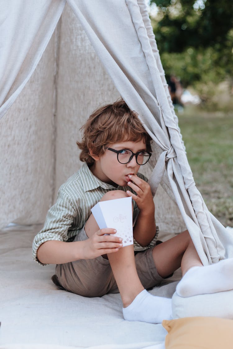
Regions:
[[[102,200],[112,200],[127,196],[121,191],[112,191],[104,195]],[[85,225],[85,231],[90,237],[99,229],[93,215]],[[105,258],[105,256],[103,256]],[[171,299],[155,297],[149,294],[140,282],[137,274],[133,245],[110,253],[109,259],[119,292],[123,302],[123,315],[129,321],[144,321],[160,323],[163,319],[172,317]]]

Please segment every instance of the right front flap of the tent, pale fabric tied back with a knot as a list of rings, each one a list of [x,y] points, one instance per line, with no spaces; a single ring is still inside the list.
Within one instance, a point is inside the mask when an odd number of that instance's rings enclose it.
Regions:
[[[81,0],[67,2],[121,96],[139,113],[154,148],[162,150],[159,157],[152,159],[154,164],[158,159],[150,179],[153,192],[166,168],[176,202],[203,264],[223,259],[225,249],[195,186],[161,80],[164,72],[157,67],[156,53],[150,43],[152,38],[147,35],[138,2],[108,1],[106,6],[101,0],[94,4]],[[117,30],[112,28],[112,23],[117,23]]]

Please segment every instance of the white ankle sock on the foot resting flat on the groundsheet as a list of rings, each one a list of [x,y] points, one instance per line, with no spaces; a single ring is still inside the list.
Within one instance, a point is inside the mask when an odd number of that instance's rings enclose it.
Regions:
[[[143,290],[128,307],[123,308],[123,316],[128,321],[161,324],[163,319],[172,319],[172,300],[152,296],[147,290]]]

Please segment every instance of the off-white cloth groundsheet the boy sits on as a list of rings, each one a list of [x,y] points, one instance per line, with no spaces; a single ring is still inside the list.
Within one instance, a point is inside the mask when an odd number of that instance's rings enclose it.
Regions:
[[[119,294],[85,298],[59,290],[50,280],[54,266],[32,261],[31,243],[40,229],[0,231],[1,349],[164,348],[162,325],[125,321]],[[179,277],[150,292],[172,297],[172,281]]]

